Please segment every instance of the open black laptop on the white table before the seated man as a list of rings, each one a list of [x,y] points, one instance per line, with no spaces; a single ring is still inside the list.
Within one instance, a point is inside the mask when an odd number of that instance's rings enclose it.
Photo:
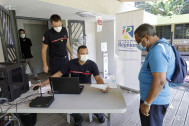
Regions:
[[[50,77],[49,81],[54,94],[80,94],[84,88],[78,77]]]

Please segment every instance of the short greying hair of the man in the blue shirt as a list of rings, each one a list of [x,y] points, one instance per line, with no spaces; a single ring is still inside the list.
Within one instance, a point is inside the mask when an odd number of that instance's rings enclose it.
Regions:
[[[140,37],[140,38],[143,38],[145,35],[154,36],[154,35],[156,35],[156,30],[150,24],[141,24],[135,30],[135,34],[138,34],[138,37]]]

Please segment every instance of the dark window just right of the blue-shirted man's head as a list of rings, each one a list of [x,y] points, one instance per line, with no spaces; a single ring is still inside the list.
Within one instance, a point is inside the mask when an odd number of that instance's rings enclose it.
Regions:
[[[171,25],[156,26],[156,34],[160,38],[171,38]]]

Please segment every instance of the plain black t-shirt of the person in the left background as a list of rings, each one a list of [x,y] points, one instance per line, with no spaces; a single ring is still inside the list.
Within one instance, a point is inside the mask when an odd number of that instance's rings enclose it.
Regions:
[[[20,38],[20,45],[21,45],[21,51],[22,51],[22,54],[23,54],[23,58],[25,59],[29,59],[29,58],[32,58],[32,54],[31,54],[31,46],[32,46],[32,43],[31,43],[31,40],[29,38]]]

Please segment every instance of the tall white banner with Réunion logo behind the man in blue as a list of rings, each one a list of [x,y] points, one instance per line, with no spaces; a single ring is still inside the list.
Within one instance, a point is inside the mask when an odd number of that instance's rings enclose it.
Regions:
[[[141,67],[141,51],[136,48],[135,29],[143,24],[157,22],[144,10],[135,10],[116,15],[115,75],[122,87],[139,91],[138,74]]]

